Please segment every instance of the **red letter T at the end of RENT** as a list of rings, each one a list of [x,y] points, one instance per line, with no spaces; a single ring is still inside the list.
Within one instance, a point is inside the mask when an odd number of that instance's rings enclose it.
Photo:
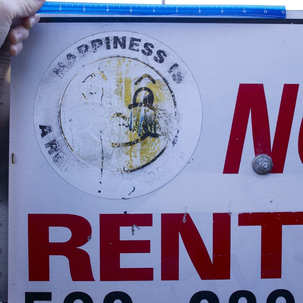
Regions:
[[[256,212],[238,215],[239,226],[261,226],[261,279],[281,278],[282,225],[303,225],[303,212]]]

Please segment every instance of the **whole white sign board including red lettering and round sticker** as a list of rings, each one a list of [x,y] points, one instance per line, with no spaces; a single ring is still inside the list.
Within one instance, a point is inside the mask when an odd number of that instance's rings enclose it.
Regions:
[[[113,20],[12,61],[9,302],[301,302],[302,25]]]

